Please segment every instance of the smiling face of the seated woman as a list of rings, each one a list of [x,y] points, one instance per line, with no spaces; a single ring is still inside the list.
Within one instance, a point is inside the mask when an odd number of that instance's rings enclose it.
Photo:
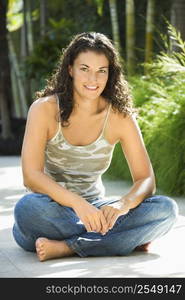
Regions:
[[[80,53],[69,67],[74,99],[98,99],[106,86],[108,72],[109,61],[104,54],[93,51]]]

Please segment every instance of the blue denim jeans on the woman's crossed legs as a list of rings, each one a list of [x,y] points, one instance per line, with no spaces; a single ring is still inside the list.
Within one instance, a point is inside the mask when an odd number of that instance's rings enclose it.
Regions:
[[[96,207],[117,200],[98,200]],[[31,193],[21,198],[14,209],[13,236],[27,251],[35,251],[38,237],[65,241],[79,256],[128,255],[137,246],[166,234],[178,215],[176,202],[154,195],[120,216],[107,234],[87,232],[73,209],[59,205],[47,195]]]

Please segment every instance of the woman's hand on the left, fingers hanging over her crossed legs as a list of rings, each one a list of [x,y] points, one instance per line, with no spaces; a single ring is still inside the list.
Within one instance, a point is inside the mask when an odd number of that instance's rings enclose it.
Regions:
[[[99,232],[106,234],[108,231],[108,223],[104,217],[103,212],[88,203],[85,199],[76,201],[73,210],[84,224],[88,232]]]

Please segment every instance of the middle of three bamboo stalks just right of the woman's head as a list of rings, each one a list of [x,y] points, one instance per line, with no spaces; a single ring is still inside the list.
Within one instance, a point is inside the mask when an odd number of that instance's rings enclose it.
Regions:
[[[126,0],[126,56],[127,73],[135,72],[135,17],[134,0]]]

